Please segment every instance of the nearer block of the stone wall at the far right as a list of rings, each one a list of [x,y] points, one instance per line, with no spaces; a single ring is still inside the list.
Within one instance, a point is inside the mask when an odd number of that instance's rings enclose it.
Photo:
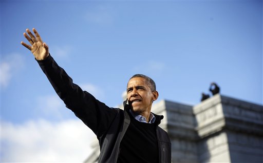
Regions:
[[[200,162],[263,162],[263,107],[219,94],[193,108]]]

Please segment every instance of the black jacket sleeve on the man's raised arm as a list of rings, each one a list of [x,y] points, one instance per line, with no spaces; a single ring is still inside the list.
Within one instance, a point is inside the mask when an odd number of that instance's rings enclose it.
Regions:
[[[73,111],[97,137],[101,137],[117,115],[117,110],[107,107],[87,91],[82,91],[51,55],[44,60],[37,60],[37,63],[66,107]]]

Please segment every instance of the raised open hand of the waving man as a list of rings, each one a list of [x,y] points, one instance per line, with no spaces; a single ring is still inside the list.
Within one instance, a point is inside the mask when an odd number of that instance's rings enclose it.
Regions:
[[[31,44],[31,46],[24,42],[21,42],[21,44],[33,53],[36,60],[43,60],[46,57],[48,57],[49,55],[48,46],[46,43],[42,42],[42,39],[39,33],[37,33],[37,31],[34,28],[33,28],[33,32],[35,36],[30,32],[29,29],[26,29],[26,32],[28,34],[24,33],[24,36],[26,37],[28,42]]]

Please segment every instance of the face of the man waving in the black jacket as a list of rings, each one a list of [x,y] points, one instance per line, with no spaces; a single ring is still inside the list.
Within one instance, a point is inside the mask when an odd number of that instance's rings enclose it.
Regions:
[[[152,103],[158,98],[158,92],[153,92],[143,77],[134,77],[128,82],[127,98],[132,111],[145,116],[151,112]]]

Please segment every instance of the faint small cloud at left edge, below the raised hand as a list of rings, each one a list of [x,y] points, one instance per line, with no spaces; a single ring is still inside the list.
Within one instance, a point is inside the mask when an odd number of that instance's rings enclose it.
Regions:
[[[8,87],[12,77],[24,66],[21,54],[9,54],[1,60],[1,86]]]

